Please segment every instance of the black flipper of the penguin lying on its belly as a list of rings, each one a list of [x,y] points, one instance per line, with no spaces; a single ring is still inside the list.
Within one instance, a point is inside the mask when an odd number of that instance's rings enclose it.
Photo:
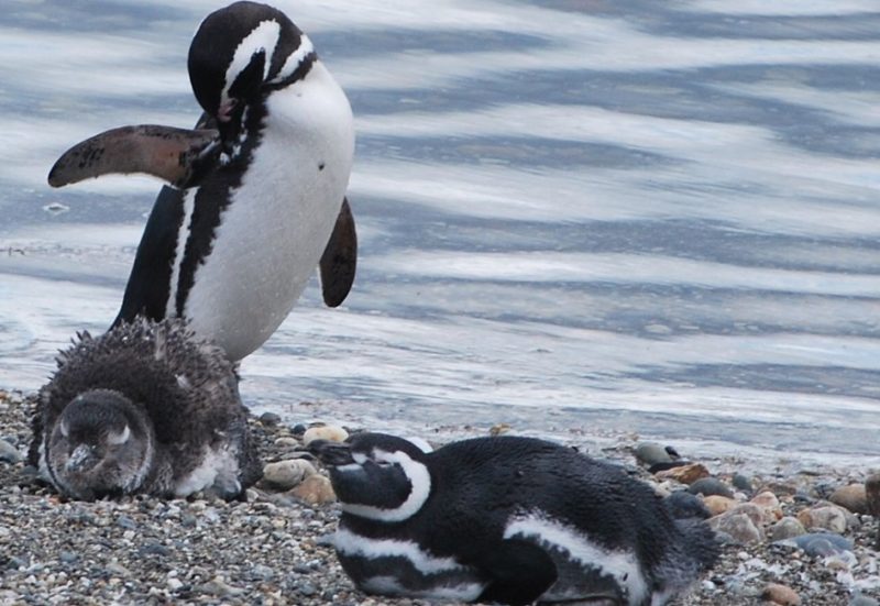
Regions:
[[[479,562],[491,582],[477,602],[525,605],[536,602],[557,580],[552,558],[531,541],[507,539]]]

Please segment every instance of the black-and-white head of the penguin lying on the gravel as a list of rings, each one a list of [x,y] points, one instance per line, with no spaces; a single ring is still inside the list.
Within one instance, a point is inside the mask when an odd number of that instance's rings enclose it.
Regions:
[[[355,433],[345,443],[316,440],[309,450],[329,469],[345,514],[382,522],[405,521],[431,494],[430,455],[385,433]]]

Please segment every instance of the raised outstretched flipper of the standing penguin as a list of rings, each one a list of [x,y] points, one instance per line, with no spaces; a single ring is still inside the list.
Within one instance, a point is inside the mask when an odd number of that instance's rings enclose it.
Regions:
[[[121,126],[67,150],[50,170],[48,184],[62,187],[101,175],[145,173],[187,187],[213,165],[220,151],[219,134],[212,129]]]

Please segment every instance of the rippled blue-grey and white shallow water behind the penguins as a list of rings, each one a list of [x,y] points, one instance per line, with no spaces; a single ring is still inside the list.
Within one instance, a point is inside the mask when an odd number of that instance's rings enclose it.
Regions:
[[[0,385],[30,390],[114,317],[158,188],[47,169],[191,125],[219,3],[8,4]],[[244,361],[251,406],[880,465],[873,0],[276,4],[351,98],[361,257],[342,309],[310,287]]]

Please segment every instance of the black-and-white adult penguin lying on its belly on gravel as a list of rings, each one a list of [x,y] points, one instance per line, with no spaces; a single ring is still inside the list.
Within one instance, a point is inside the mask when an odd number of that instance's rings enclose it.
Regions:
[[[332,542],[370,594],[501,604],[660,606],[712,568],[700,519],[673,519],[610,463],[524,437],[433,452],[383,433],[317,441],[342,515]]]

